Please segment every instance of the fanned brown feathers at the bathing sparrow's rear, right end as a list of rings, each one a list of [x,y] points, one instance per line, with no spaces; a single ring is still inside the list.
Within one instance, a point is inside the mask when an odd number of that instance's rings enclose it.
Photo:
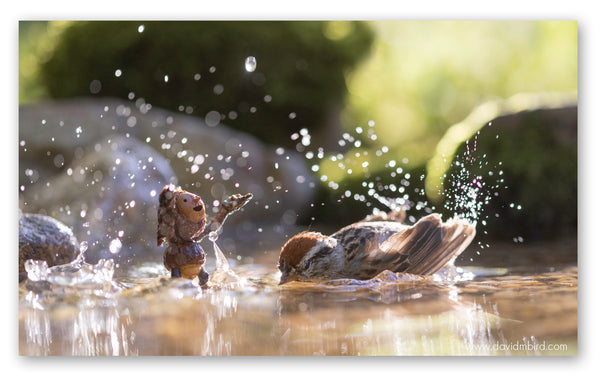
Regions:
[[[398,232],[379,246],[371,258],[384,269],[430,275],[462,253],[475,237],[475,226],[458,218],[442,222],[432,214]]]

